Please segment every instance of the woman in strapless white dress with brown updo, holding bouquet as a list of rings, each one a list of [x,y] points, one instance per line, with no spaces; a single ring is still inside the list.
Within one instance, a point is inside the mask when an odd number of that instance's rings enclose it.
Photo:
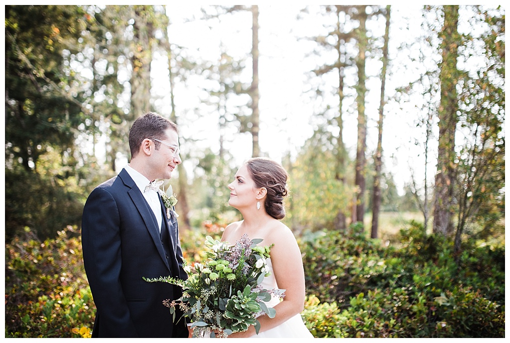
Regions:
[[[304,325],[300,312],[304,305],[304,272],[301,252],[292,231],[281,221],[285,217],[284,197],[287,195],[287,172],[278,163],[257,157],[247,161],[228,185],[228,204],[237,208],[243,220],[225,228],[222,241],[237,242],[243,234],[250,239],[263,239],[272,245],[268,268],[271,275],[263,281],[266,289],[285,289],[283,301],[273,298],[268,307],[276,310],[274,318],[259,316],[259,334],[254,326],[228,337],[313,338]]]

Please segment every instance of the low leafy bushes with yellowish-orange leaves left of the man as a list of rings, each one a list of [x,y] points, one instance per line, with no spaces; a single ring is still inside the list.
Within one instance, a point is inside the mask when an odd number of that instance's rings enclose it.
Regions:
[[[95,306],[72,227],[6,244],[6,337],[90,337]]]

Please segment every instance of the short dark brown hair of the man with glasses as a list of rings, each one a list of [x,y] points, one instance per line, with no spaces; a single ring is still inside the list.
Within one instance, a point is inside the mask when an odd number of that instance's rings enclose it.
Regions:
[[[157,113],[147,112],[145,115],[137,118],[129,131],[129,148],[131,158],[135,157],[140,150],[142,141],[146,138],[164,139],[165,131],[171,127],[177,132],[177,125],[174,122],[163,118]],[[159,149],[160,143],[154,142],[156,149]]]

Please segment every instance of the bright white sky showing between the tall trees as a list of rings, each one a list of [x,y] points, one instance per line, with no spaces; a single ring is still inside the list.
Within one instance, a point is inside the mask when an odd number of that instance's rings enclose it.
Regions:
[[[313,49],[313,43],[298,41],[297,36],[312,36],[322,28],[323,19],[316,16],[317,20],[297,20],[299,10],[303,5],[259,5],[259,78],[260,78],[260,146],[262,153],[280,161],[282,156],[290,151],[295,156],[302,147],[305,140],[310,138],[314,129],[314,103],[309,96],[303,95],[307,85],[305,73],[315,67],[313,61],[305,59],[307,52]],[[404,16],[414,16],[411,24],[419,25],[420,5],[409,5],[406,7],[392,7],[391,34],[394,39],[390,46],[390,54],[395,57],[395,48],[399,45],[400,39],[410,39],[411,34],[404,27],[409,21],[402,20]],[[246,56],[251,50],[251,13],[224,17],[221,25],[210,29],[206,23],[200,21],[184,22],[185,17],[192,14],[200,17],[199,5],[167,5],[167,13],[170,17],[169,36],[171,43],[186,46],[197,56],[204,59],[215,60],[219,56],[220,43],[228,47],[228,53],[234,57]],[[235,18],[238,20],[234,22]],[[240,20],[239,20],[240,19]],[[417,30],[418,27],[415,27]],[[382,29],[384,30],[384,28]],[[251,60],[247,61],[246,82],[251,80]],[[395,62],[393,62],[395,63]],[[157,64],[155,64],[156,66]],[[397,62],[398,65],[398,62]],[[367,73],[377,71],[367,66]],[[166,68],[164,62],[161,68]],[[373,69],[373,68],[372,68]],[[404,71],[402,71],[404,72]],[[408,82],[412,75],[405,71],[399,81]],[[156,71],[155,78],[168,77],[166,72]],[[337,81],[338,83],[338,81]],[[377,143],[376,120],[378,118],[380,83],[369,85],[373,93],[369,94],[372,100],[368,100],[367,115],[368,151],[373,150]],[[387,83],[390,90],[395,85]],[[154,91],[154,90],[153,90]],[[168,88],[162,86],[156,90],[161,97],[160,105],[164,108],[169,103]],[[392,95],[392,94],[388,94]],[[176,85],[175,88],[176,111],[185,117],[193,117],[190,111],[196,106],[198,93],[192,89],[183,90]],[[168,107],[167,107],[168,109]],[[405,181],[410,179],[410,163],[414,164],[423,175],[423,161],[409,159],[409,156],[416,156],[418,152],[413,151],[415,147],[412,141],[413,121],[416,116],[412,114],[412,108],[407,111],[394,108],[385,118],[385,130],[383,133],[383,149],[385,164],[392,171],[401,189]],[[164,112],[164,111],[163,111]],[[356,115],[345,115],[344,143],[354,156],[356,148],[357,121]],[[219,149],[219,129],[217,115],[211,114],[208,118],[193,122],[193,125],[184,125],[180,122],[180,129],[183,136],[192,139],[203,139],[201,147],[211,147],[213,151]],[[240,165],[251,156],[251,137],[249,134],[235,134],[227,138],[234,140],[226,143],[225,147],[235,156],[236,164]],[[186,141],[181,145],[186,149]],[[188,168],[193,165],[190,161]],[[433,169],[432,165],[432,169]],[[433,171],[429,173],[433,175]]]

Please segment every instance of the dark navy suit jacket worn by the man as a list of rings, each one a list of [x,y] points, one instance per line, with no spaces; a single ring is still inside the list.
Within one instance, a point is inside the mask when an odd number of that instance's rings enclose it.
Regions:
[[[187,278],[177,221],[167,219],[161,196],[160,202],[170,232],[168,258],[156,217],[125,169],[88,197],[82,247],[97,309],[92,337],[188,337],[185,321],[174,324],[163,305],[163,300],[181,297],[180,287],[142,279]]]

